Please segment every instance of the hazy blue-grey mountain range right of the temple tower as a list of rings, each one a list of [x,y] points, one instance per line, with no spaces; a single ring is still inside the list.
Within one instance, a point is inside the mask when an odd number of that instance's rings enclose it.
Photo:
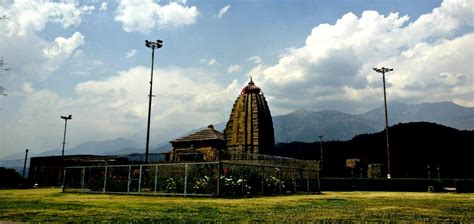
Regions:
[[[397,101],[387,106],[389,126],[409,122],[433,122],[459,130],[474,130],[474,108],[451,102],[405,104]],[[296,110],[273,117],[275,142],[313,142],[319,135],[324,140],[350,140],[363,133],[375,133],[385,126],[384,108],[363,114],[339,111]]]

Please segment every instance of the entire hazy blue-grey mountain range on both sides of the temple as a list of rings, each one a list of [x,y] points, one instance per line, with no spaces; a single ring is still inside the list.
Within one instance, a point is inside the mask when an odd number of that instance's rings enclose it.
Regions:
[[[405,104],[397,101],[388,104],[389,125],[408,122],[434,122],[459,130],[474,130],[474,108],[463,107],[451,102]],[[225,122],[215,124],[217,130],[222,131]],[[346,141],[354,136],[365,133],[375,133],[384,129],[384,108],[378,107],[363,114],[348,114],[334,110],[308,111],[296,110],[286,115],[273,117],[275,142],[314,142],[318,136],[324,135],[324,141]],[[197,130],[195,130],[197,131]],[[194,131],[192,131],[194,132]],[[182,133],[181,136],[188,133]],[[179,137],[179,136],[176,136]],[[168,137],[169,138],[169,137]],[[171,149],[168,143],[172,139],[160,139],[163,142],[150,148],[150,152],[164,152]],[[81,143],[66,150],[66,155],[95,154],[118,155],[141,153],[144,149],[141,144],[127,139],[117,138],[106,141],[91,141]],[[46,150],[32,156],[59,155],[60,149]],[[1,160],[19,160],[24,158],[23,153],[9,155]],[[6,166],[0,160],[0,166]],[[14,162],[22,163],[22,162]],[[20,165],[22,166],[22,164]]]

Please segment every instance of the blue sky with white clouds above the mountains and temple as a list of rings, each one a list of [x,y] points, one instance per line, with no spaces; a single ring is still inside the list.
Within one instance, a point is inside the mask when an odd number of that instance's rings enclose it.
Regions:
[[[227,121],[253,77],[272,115],[363,113],[387,98],[474,107],[470,0],[0,0],[0,158]]]

